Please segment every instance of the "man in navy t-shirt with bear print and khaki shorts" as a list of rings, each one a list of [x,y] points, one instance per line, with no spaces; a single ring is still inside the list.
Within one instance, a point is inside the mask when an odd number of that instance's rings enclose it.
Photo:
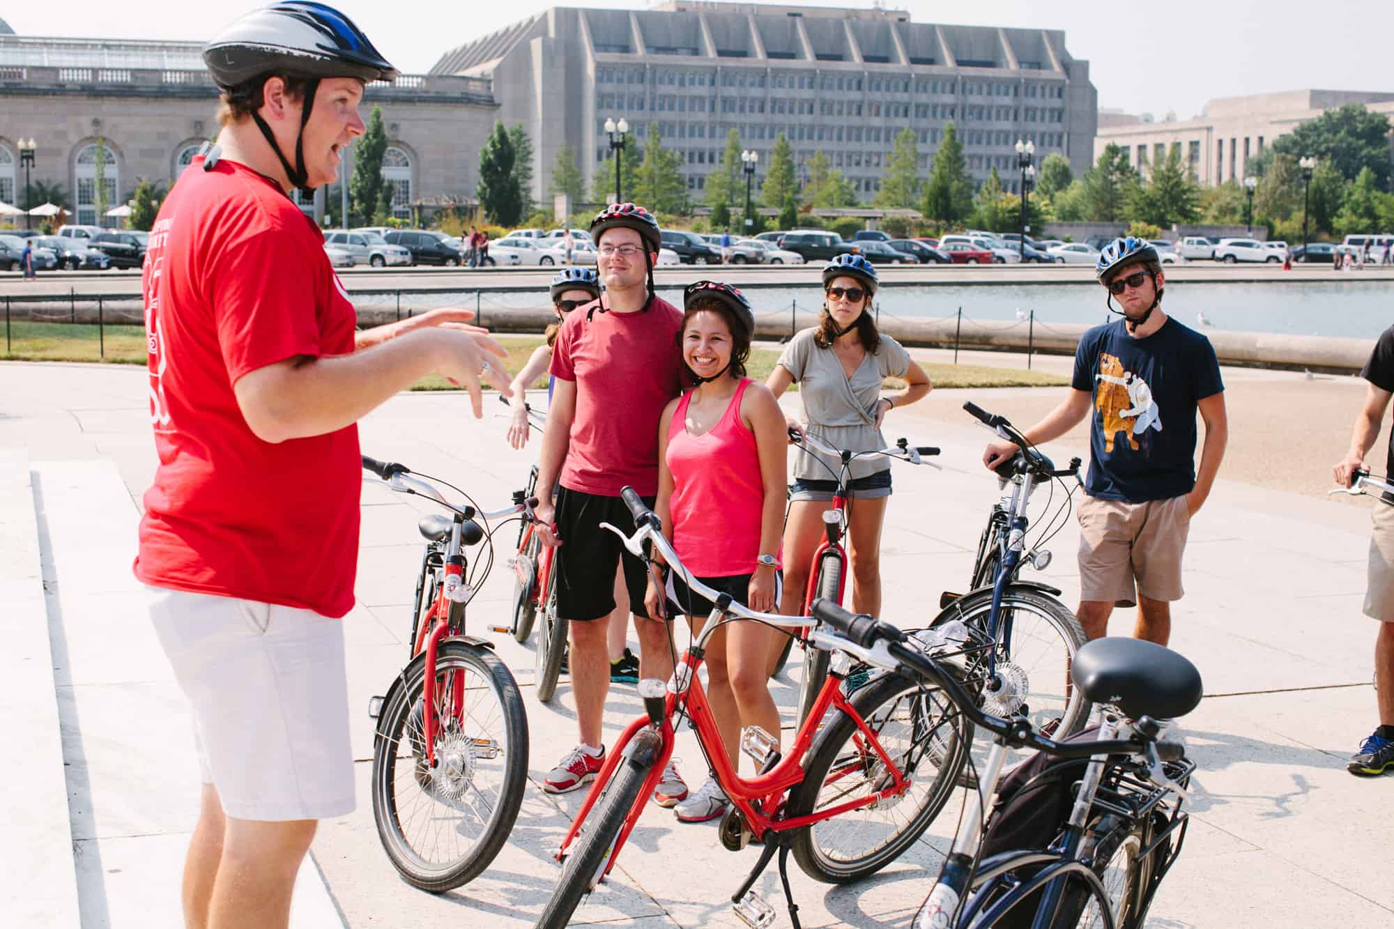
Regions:
[[[1190,518],[1224,458],[1224,384],[1210,340],[1161,310],[1165,278],[1156,248],[1115,239],[1100,252],[1096,275],[1110,312],[1122,319],[1085,333],[1069,396],[1025,437],[1050,442],[1093,414],[1078,513],[1079,624],[1097,639],[1115,605],[1136,604],[1133,635],[1167,644]],[[1206,424],[1199,469],[1197,410]],[[983,463],[995,469],[1015,453],[1012,442],[993,442]]]

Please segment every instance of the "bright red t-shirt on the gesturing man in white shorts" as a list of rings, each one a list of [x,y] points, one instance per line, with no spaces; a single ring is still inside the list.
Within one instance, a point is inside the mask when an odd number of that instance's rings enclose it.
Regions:
[[[233,385],[294,357],[348,354],[357,317],[323,236],[269,179],[195,158],[160,206],[144,273],[151,421],[135,576],[156,587],[353,608],[361,464],[354,425],[280,444]]]

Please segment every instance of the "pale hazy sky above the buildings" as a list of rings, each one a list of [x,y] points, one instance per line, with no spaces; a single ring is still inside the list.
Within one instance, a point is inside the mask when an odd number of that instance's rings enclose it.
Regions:
[[[263,0],[265,1],[265,0]],[[15,32],[99,38],[206,39],[256,0],[63,0],[6,4]],[[555,3],[512,0],[340,0],[344,13],[399,68],[422,73],[450,47],[487,35]],[[569,6],[643,10],[634,0],[574,0]],[[802,6],[868,7],[868,0]],[[1098,105],[1181,119],[1210,98],[1298,88],[1394,91],[1388,67],[1394,4],[1221,0],[1220,3],[1110,4],[1078,0],[993,3],[888,1],[916,22],[1004,25],[1065,31],[1072,56],[1090,63]],[[138,11],[139,15],[132,15]]]

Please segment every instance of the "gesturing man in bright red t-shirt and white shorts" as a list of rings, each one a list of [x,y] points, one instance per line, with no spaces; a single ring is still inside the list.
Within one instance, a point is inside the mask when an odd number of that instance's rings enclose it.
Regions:
[[[429,371],[464,384],[478,417],[480,378],[506,374],[466,311],[357,333],[289,197],[337,177],[365,84],[396,75],[367,36],[290,1],[204,57],[223,91],[217,144],[170,191],[145,259],[159,467],[135,575],[204,781],[185,922],[284,926],[316,820],[354,806],[339,621],[358,554],[354,423]]]

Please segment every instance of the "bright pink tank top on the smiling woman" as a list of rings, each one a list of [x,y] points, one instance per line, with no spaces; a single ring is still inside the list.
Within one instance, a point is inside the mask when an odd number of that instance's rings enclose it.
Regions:
[[[756,571],[765,487],[756,434],[740,421],[743,378],[726,411],[705,435],[687,431],[687,392],[668,427],[668,470],[673,476],[669,513],[673,548],[698,577]]]

